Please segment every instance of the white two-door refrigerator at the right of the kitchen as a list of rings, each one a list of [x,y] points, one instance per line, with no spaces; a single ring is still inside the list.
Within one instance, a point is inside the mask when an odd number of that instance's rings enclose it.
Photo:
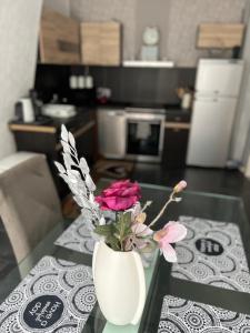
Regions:
[[[226,167],[242,71],[242,60],[199,61],[188,165]]]

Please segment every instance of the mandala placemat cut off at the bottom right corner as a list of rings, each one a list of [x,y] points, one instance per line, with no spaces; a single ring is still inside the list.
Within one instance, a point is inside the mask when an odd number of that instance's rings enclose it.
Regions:
[[[250,316],[167,295],[158,333],[247,333]]]

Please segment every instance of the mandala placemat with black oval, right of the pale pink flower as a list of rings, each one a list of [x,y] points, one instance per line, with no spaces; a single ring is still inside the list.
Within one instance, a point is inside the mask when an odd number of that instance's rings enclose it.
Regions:
[[[173,278],[250,293],[250,273],[234,223],[180,216],[187,238],[176,245]]]

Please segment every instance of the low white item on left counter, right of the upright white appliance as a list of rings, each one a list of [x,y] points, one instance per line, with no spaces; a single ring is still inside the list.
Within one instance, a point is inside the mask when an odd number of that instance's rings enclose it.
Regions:
[[[51,118],[68,119],[77,114],[76,107],[71,104],[44,104],[42,114]]]

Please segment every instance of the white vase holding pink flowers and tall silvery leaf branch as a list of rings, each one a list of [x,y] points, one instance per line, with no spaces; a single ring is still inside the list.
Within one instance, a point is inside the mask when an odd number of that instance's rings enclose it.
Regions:
[[[157,222],[171,202],[181,201],[178,194],[187,183],[179,182],[157,216],[147,221],[146,211],[152,202],[140,203],[141,189],[137,182],[116,181],[94,196],[96,185],[88,164],[83,158],[78,158],[74,138],[64,125],[61,144],[64,165],[58,162],[56,165],[81,208],[81,213],[88,218],[88,226],[97,240],[92,270],[101,311],[113,324],[136,324],[146,301],[141,258],[158,248],[167,261],[177,261],[171,244],[186,236],[186,228],[170,221],[159,230]],[[106,212],[113,212],[114,218],[106,220]]]

